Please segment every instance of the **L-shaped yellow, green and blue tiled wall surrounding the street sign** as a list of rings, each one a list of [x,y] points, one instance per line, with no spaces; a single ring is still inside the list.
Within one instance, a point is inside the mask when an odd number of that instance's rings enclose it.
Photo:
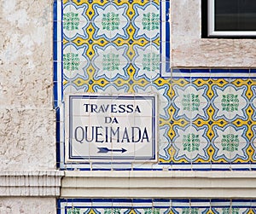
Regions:
[[[254,170],[256,70],[171,69],[169,1],[55,1],[58,167]],[[64,95],[159,95],[158,162],[67,163]]]

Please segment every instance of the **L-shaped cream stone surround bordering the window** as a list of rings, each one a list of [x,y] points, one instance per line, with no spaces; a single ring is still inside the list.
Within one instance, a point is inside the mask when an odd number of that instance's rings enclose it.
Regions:
[[[256,67],[255,39],[201,38],[201,0],[172,0],[171,17],[172,67]]]

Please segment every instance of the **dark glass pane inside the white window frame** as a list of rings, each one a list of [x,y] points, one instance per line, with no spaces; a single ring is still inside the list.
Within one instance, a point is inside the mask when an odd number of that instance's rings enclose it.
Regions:
[[[256,0],[215,0],[216,31],[256,31]]]

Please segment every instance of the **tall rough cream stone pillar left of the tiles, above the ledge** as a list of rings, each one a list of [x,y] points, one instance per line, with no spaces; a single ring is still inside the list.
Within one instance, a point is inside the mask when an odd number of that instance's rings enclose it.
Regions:
[[[0,170],[55,169],[52,1],[3,0],[0,13]]]

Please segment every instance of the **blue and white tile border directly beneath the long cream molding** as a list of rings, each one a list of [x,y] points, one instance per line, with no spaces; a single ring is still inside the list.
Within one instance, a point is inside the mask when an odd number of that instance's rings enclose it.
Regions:
[[[177,209],[197,208],[214,211],[215,209],[239,208],[239,209],[255,209],[256,200],[218,200],[218,199],[193,199],[193,200],[177,200],[177,199],[59,199],[56,202],[58,214],[67,213],[67,209]],[[155,205],[154,205],[155,204]],[[166,210],[166,211],[167,211]],[[137,213],[137,212],[136,212]],[[176,212],[175,212],[176,213]],[[179,213],[179,212],[177,212]],[[247,213],[247,212],[246,212]]]

